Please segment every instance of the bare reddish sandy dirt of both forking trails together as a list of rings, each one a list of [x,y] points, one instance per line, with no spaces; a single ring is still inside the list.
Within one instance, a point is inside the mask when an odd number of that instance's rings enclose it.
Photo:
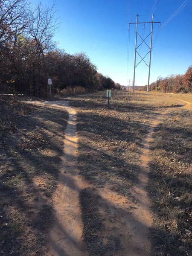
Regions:
[[[87,187],[88,184],[79,176],[77,167],[76,111],[64,101],[41,104],[60,106],[69,113],[61,172],[58,187],[53,196],[55,221],[49,233],[47,256],[87,256],[86,246],[81,238],[83,224],[79,191]],[[96,189],[99,194],[99,212],[105,223],[105,232],[102,233],[103,240],[107,241],[110,236],[116,236],[121,241],[121,249],[115,252],[116,256],[149,256],[151,253],[148,232],[152,226],[152,214],[146,191],[149,153],[154,128],[160,122],[163,114],[168,111],[167,109],[160,113],[148,127],[148,135],[143,141],[143,151],[140,157],[141,171],[137,183],[129,191],[130,200],[119,195],[118,192],[111,191],[110,185]]]

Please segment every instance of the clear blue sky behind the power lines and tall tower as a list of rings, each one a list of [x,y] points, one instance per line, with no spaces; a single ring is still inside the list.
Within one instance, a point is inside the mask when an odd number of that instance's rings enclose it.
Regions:
[[[53,3],[52,0],[41,2]],[[139,21],[151,21],[152,11],[154,21],[161,21],[155,44],[159,25],[154,24],[150,83],[157,76],[184,74],[192,65],[192,0],[56,0],[55,3],[61,22],[54,37],[58,47],[71,54],[86,52],[98,72],[115,82],[127,85],[133,79],[135,25],[130,25],[128,30],[128,23],[135,22],[137,14],[146,15],[139,16]],[[182,4],[184,8],[163,25]],[[138,32],[145,37],[150,27],[140,25]],[[146,50],[144,45],[138,49],[143,56]],[[148,58],[145,60],[148,63]],[[136,68],[135,84],[145,85],[147,81],[148,68],[140,64]]]

